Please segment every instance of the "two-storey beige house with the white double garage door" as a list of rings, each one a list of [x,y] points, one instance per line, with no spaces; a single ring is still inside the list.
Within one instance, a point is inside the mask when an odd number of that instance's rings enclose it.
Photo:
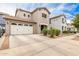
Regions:
[[[49,28],[50,12],[47,8],[36,8],[29,12],[17,9],[15,16],[5,16],[6,32],[8,34],[41,33],[42,29]]]

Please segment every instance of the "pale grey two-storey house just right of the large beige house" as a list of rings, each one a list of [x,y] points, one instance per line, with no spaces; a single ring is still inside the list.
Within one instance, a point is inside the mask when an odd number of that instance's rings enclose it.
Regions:
[[[50,27],[61,30],[61,33],[62,31],[67,30],[67,21],[66,16],[64,14],[50,18],[49,24]]]

